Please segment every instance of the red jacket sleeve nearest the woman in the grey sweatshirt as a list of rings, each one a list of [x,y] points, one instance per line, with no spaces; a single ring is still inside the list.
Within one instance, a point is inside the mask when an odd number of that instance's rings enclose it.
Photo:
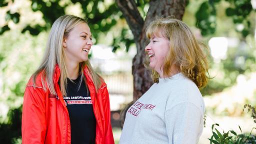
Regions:
[[[111,127],[111,115],[110,115],[110,102],[109,102],[109,94],[106,88],[106,85],[102,88],[103,94],[103,108],[104,108],[104,116],[105,116],[105,144],[114,143],[113,132]]]

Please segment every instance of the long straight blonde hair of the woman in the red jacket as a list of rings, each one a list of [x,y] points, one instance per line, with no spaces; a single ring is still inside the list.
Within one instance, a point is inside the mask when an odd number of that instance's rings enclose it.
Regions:
[[[33,73],[33,86],[35,86],[35,77],[42,72],[41,82],[44,90],[46,86],[51,94],[56,94],[53,83],[54,68],[57,64],[60,69],[59,86],[63,95],[66,95],[65,87],[67,85],[67,69],[64,62],[64,49],[62,46],[64,36],[68,36],[68,33],[78,24],[86,23],[85,19],[82,19],[73,15],[62,15],[57,18],[51,26],[46,49],[42,61],[38,69]],[[84,67],[88,67],[88,74],[91,75],[95,89],[99,88],[102,78],[92,69],[88,60],[79,63],[79,73],[81,74],[80,83],[85,80]],[[80,84],[79,84],[80,85]]]

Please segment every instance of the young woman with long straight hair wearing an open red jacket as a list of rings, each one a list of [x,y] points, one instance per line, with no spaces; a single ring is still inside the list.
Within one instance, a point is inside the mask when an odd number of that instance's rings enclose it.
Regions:
[[[53,23],[23,101],[22,143],[114,143],[109,96],[88,61],[91,33],[73,15]]]

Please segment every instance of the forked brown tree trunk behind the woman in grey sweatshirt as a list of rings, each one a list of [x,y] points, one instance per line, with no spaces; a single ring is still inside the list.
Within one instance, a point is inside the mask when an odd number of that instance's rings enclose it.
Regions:
[[[146,46],[145,28],[156,16],[173,16],[182,19],[186,0],[150,0],[145,20],[140,16],[134,0],[117,0],[134,36],[137,54],[132,59],[133,101],[137,100],[152,85],[150,71],[143,65]]]

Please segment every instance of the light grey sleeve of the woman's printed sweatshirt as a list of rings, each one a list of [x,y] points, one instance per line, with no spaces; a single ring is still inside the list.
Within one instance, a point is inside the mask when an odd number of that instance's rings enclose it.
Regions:
[[[200,109],[191,102],[181,102],[165,111],[165,124],[169,143],[198,142],[201,134]]]

